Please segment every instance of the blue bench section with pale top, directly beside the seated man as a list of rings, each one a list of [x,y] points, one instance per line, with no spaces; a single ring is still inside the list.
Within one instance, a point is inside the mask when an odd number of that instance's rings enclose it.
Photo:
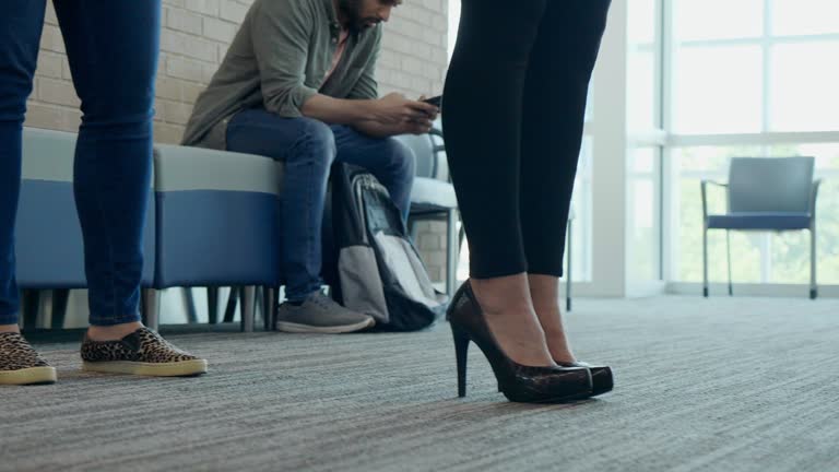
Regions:
[[[279,283],[281,164],[158,145],[155,170],[155,287]]]

